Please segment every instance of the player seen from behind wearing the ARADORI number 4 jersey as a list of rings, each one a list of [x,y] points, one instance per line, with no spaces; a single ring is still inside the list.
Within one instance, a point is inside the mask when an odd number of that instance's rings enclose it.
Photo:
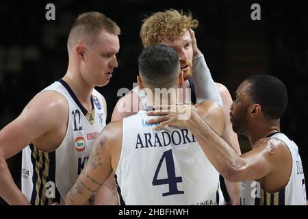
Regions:
[[[174,49],[162,44],[144,49],[139,57],[139,70],[140,86],[148,89],[149,106],[161,101],[177,103],[177,88],[184,80]],[[157,88],[162,90],[157,92]],[[224,129],[221,107],[205,101],[196,108],[221,134]],[[149,118],[146,110],[140,110],[103,129],[86,167],[66,196],[66,205],[84,205],[112,171],[115,171],[121,205],[224,203],[219,173],[191,131],[173,128],[154,131],[155,125],[145,124]]]

